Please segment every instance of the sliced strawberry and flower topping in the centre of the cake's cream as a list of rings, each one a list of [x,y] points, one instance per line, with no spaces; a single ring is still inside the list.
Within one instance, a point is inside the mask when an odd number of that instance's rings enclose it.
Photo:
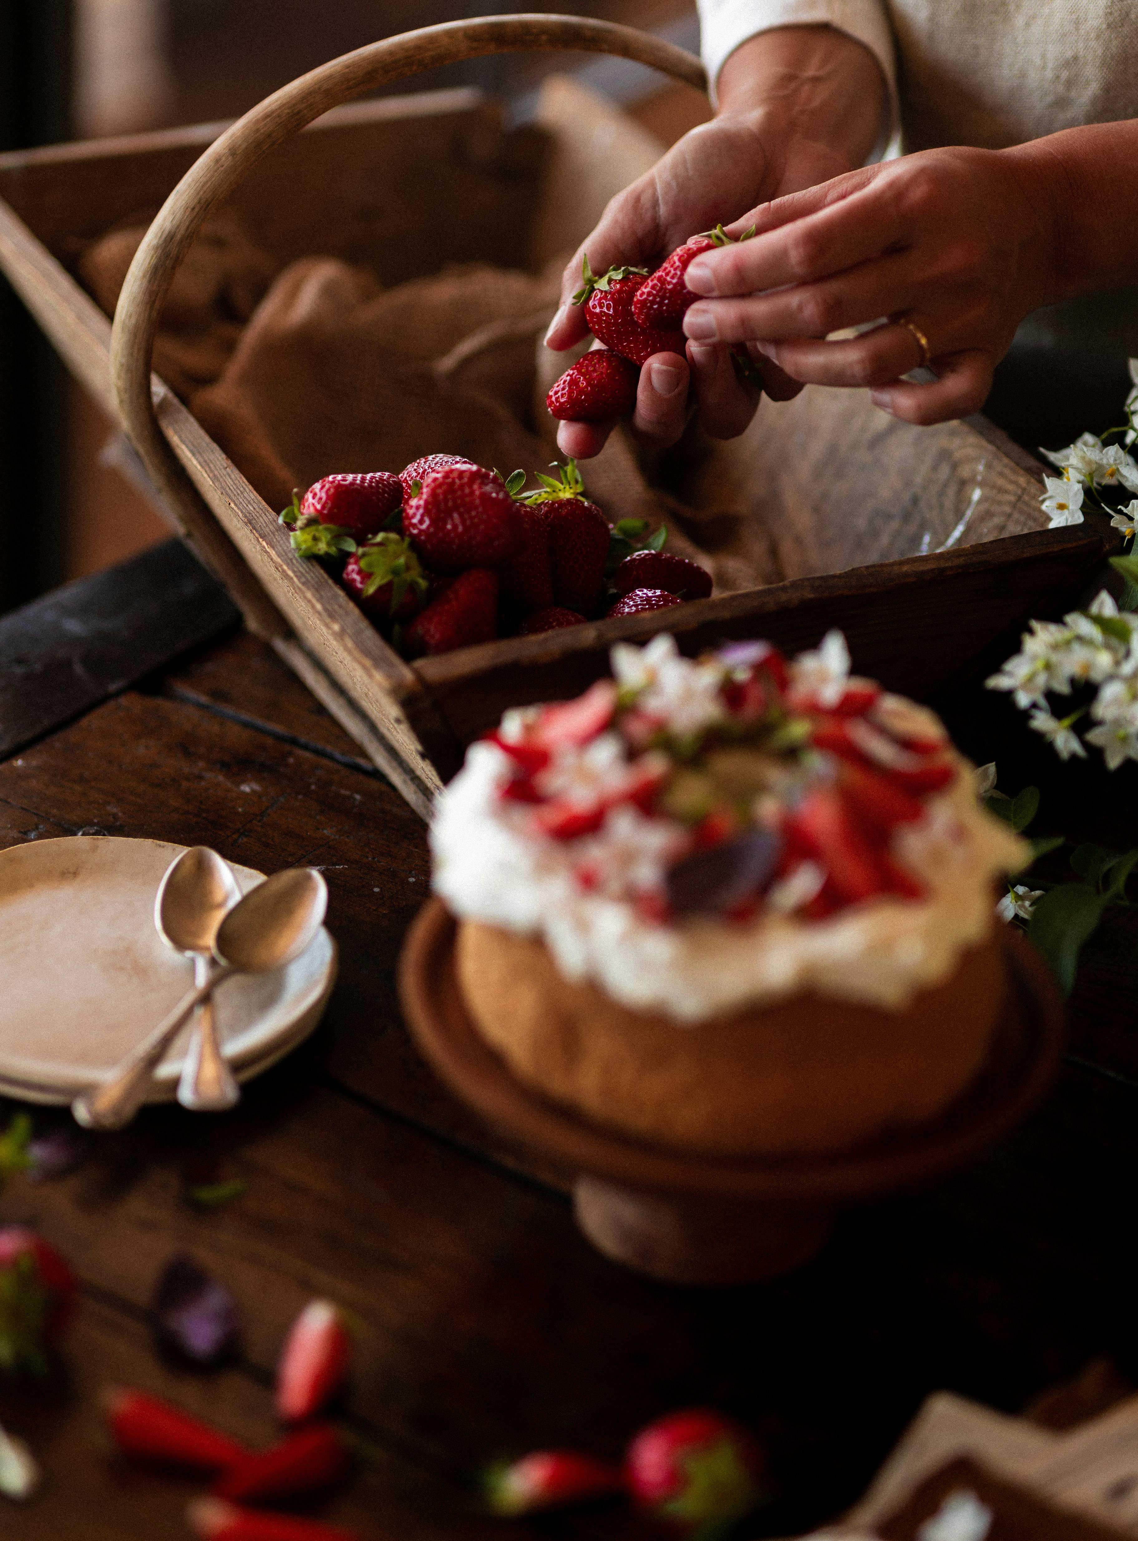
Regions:
[[[924,897],[892,844],[958,774],[930,713],[872,680],[819,684],[821,653],[788,661],[768,643],[696,661],[659,636],[614,649],[614,664],[622,652],[648,664],[511,712],[487,735],[511,766],[500,800],[531,834],[565,843],[585,892],[625,898],[654,923],[745,923],[765,905],[824,920],[879,895]],[[641,863],[634,891],[619,837],[627,811],[667,835],[661,871]]]

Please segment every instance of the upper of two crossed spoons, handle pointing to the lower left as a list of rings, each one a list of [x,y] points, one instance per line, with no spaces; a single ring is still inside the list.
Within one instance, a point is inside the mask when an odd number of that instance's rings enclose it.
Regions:
[[[313,868],[290,868],[259,883],[222,922],[214,942],[220,968],[179,1002],[106,1080],[71,1103],[85,1130],[122,1130],[146,1100],[151,1074],[183,1023],[233,974],[269,974],[311,945],[328,909],[328,886]]]

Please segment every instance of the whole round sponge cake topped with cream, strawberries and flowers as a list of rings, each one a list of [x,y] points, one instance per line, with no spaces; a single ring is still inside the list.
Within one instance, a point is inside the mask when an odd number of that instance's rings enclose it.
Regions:
[[[507,712],[431,826],[454,968],[511,1074],[705,1156],[824,1156],[935,1119],[999,1020],[996,883],[1027,846],[927,709],[668,635]]]

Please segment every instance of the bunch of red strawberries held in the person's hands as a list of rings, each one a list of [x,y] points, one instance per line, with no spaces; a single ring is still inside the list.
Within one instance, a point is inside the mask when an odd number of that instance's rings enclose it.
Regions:
[[[751,227],[739,239],[748,240],[753,234]],[[597,277],[585,257],[584,284],[573,304],[585,307],[588,330],[602,347],[577,359],[554,382],[545,398],[551,415],[571,422],[628,418],[636,407],[641,367],[658,353],[687,356],[687,337],[681,328],[685,311],[699,296],[687,287],[684,274],[701,253],[731,243],[733,237],[716,225],[691,236],[654,273],[619,265]],[[731,359],[738,374],[762,385],[745,348],[733,350]]]

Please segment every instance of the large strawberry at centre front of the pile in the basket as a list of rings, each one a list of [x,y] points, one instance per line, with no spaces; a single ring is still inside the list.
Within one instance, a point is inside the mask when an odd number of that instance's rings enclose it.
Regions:
[[[500,478],[480,465],[428,472],[403,509],[403,533],[439,573],[497,567],[520,547],[514,499]]]

